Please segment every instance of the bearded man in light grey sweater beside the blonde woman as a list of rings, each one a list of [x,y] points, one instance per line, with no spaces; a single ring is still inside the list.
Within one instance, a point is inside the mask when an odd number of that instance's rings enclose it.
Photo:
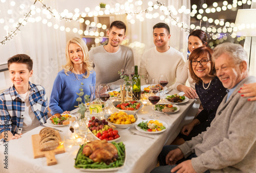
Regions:
[[[134,66],[133,51],[130,47],[120,45],[125,38],[125,31],[124,22],[113,21],[108,31],[109,43],[89,51],[89,58],[96,72],[96,84],[109,84],[111,90],[124,82],[120,79],[118,71]]]

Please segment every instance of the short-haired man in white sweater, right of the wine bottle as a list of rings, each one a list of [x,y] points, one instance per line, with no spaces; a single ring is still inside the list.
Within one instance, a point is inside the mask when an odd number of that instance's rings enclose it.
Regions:
[[[168,75],[167,87],[175,88],[176,79],[180,77],[185,60],[181,52],[168,45],[170,29],[166,23],[157,23],[153,27],[155,47],[147,50],[141,58],[139,75],[141,85],[150,84],[151,80],[159,79],[161,73]]]

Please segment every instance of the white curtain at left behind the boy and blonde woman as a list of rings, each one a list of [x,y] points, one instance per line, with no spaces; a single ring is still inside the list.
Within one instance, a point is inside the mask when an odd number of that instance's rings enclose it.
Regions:
[[[19,18],[24,18],[24,13],[30,11],[30,6],[34,1],[15,1],[15,6],[10,5],[11,1],[5,3],[0,2],[1,17],[5,23],[0,24],[0,41],[3,40],[7,32],[3,26],[8,26],[8,31],[14,31],[12,24],[9,20],[13,18],[18,21]],[[48,6],[55,6],[57,0],[44,1]],[[24,9],[20,9],[20,6]],[[42,5],[37,2],[36,7],[41,9]],[[12,10],[12,14],[8,14],[7,10]],[[17,10],[18,9],[18,10]],[[42,23],[42,19],[47,19],[52,22],[52,25],[65,21],[48,19],[42,12],[36,13],[34,16],[40,16],[41,20],[38,22],[28,22],[26,26],[20,27],[21,32],[17,32],[17,36],[13,40],[7,41],[6,45],[0,45],[1,63],[7,63],[7,59],[16,54],[27,54],[33,59],[33,77],[30,79],[32,83],[40,84],[45,87],[47,96],[49,98],[52,90],[52,85],[56,74],[62,64],[66,62],[65,46],[66,46],[66,32],[56,30],[53,27],[48,27],[47,24]],[[34,17],[33,16],[33,17]],[[14,22],[14,23],[15,23]],[[63,25],[63,24],[62,24]],[[9,80],[9,79],[6,79]]]

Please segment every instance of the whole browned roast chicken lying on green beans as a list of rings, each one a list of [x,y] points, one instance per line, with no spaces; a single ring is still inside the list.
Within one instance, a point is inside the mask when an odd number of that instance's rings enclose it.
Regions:
[[[82,153],[89,156],[94,162],[105,162],[106,164],[116,161],[118,157],[116,146],[106,140],[88,142],[83,147]]]

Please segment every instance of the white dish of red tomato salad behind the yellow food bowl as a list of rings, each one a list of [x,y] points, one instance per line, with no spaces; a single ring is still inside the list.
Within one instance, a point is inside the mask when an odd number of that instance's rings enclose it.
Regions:
[[[112,102],[114,108],[120,110],[120,111],[137,111],[138,109],[141,109],[144,105],[141,101],[126,101],[124,103],[121,103],[119,101]]]

